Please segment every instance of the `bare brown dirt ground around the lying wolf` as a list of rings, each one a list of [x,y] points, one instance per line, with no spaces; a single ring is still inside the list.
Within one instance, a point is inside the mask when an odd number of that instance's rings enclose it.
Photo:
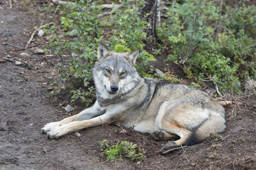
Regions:
[[[34,53],[34,48],[43,48],[45,37],[35,36],[24,48],[34,26],[57,21],[56,16],[39,14],[48,1],[28,6],[13,0],[12,9],[9,2],[0,1],[0,169],[256,169],[255,93],[232,98],[235,104],[226,107],[222,141],[209,140],[167,156],[158,154],[164,142],[117,125],[80,130],[79,137],[47,139],[41,134],[45,123],[81,111],[75,107],[72,113],[65,112],[60,104],[66,101],[54,99],[47,91],[60,59]],[[98,141],[103,139],[136,143],[145,149],[146,158],[142,162],[106,161],[98,150]]]

